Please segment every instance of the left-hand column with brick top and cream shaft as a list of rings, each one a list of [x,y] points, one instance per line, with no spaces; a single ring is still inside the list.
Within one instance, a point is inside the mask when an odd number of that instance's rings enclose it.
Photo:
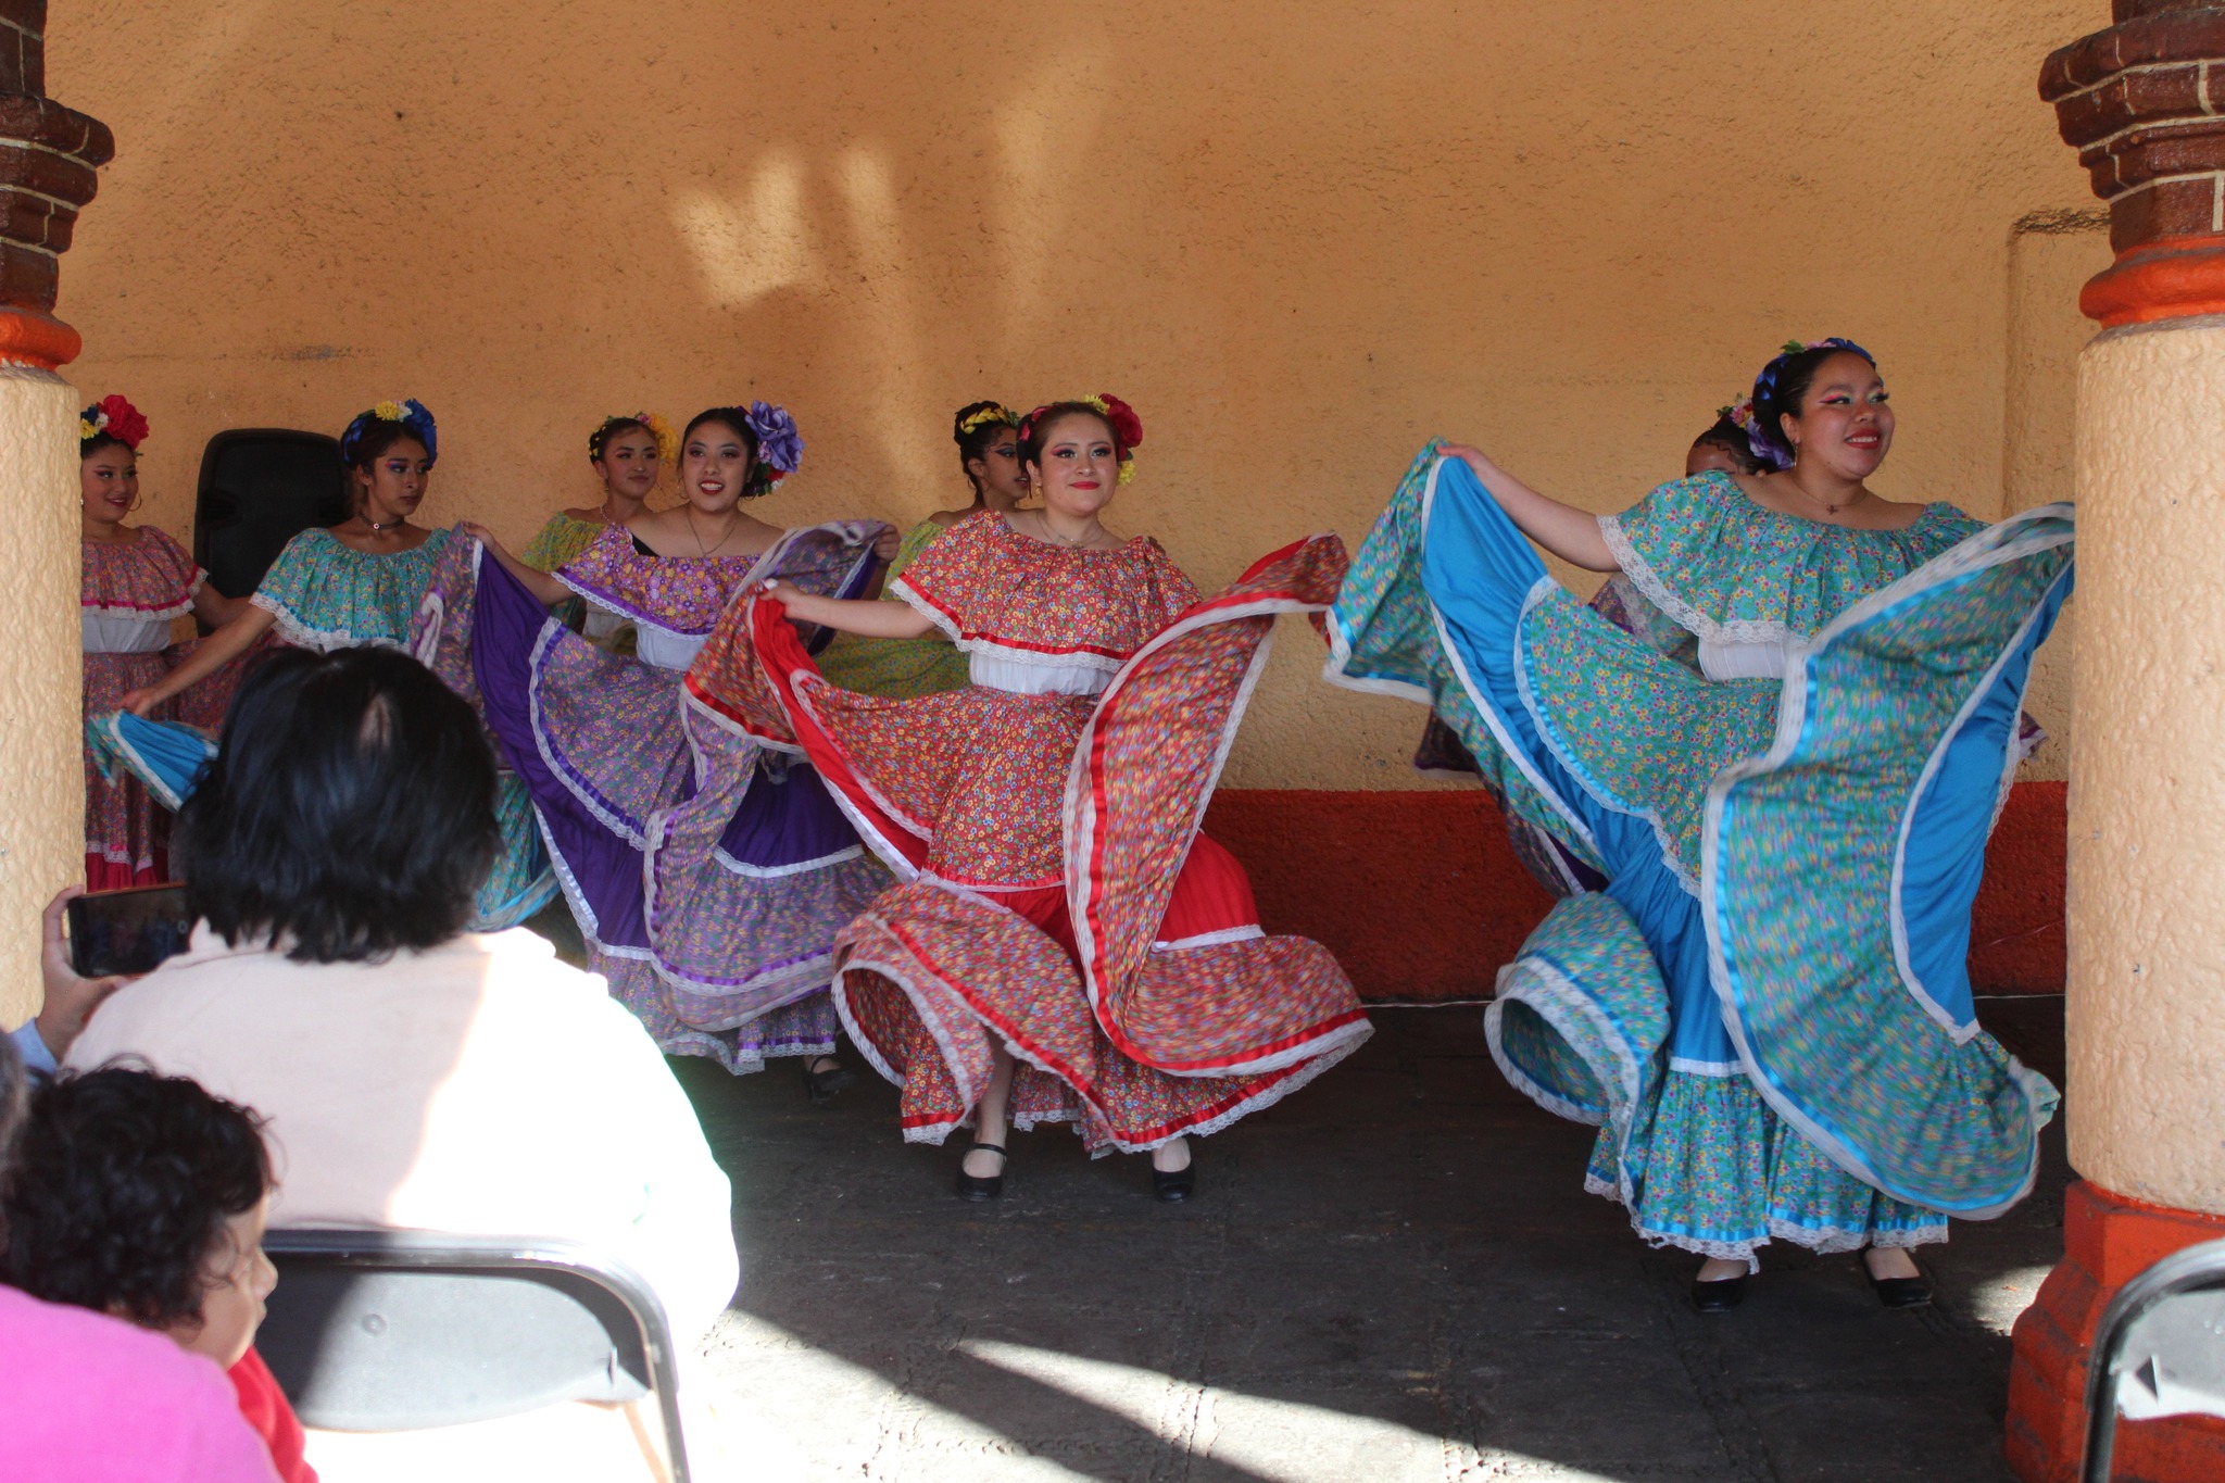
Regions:
[[[38,1009],[38,912],[85,876],[78,396],[56,376],[78,331],[53,296],[116,138],[44,96],[44,0],[0,0],[0,1025]]]

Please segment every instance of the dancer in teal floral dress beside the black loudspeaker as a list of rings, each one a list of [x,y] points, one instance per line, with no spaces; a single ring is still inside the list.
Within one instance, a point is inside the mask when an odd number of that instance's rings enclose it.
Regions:
[[[156,714],[171,696],[247,654],[271,631],[298,649],[403,647],[409,618],[454,534],[409,522],[425,500],[438,458],[432,414],[407,398],[378,402],[356,414],[340,434],[340,458],[347,460],[354,485],[354,514],[329,529],[312,527],[294,536],[263,574],[247,607],[169,676],[129,691],[122,709],[140,718]],[[160,776],[136,756],[142,754],[142,743],[116,729],[113,720],[96,725],[96,743],[116,747],[142,780]],[[474,927],[483,932],[525,920],[556,894],[547,854],[534,832],[532,805],[510,774],[496,792],[496,818],[505,849],[478,892]]]

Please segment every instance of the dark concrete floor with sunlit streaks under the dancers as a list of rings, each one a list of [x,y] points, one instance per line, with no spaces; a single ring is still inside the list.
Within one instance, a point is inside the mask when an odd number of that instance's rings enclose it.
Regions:
[[[1985,1009],[2060,1078],[2060,1001]],[[1582,1194],[1591,1132],[1506,1085],[1468,1007],[1380,1012],[1199,1147],[1188,1207],[1064,1129],[966,1205],[879,1081],[817,1109],[785,1067],[679,1072],[734,1176],[710,1363],[763,1479],[2007,1481],[2007,1334],[2060,1254],[2058,1123],[2031,1201],[1927,1247],[1936,1307],[1784,1247],[1702,1318],[1695,1258]]]

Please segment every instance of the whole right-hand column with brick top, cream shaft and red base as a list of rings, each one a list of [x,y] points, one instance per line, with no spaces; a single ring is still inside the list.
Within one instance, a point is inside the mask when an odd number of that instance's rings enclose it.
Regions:
[[[2016,1323],[2007,1454],[2078,1476],[2103,1307],[2225,1236],[2225,7],[2118,0],[2047,58],[2116,262],[2078,302],[2065,1254]],[[2118,1476],[2225,1479],[2225,1423],[2118,1432]]]

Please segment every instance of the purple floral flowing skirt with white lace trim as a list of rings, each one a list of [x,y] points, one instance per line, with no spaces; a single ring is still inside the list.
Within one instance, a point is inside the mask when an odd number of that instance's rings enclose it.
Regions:
[[[857,565],[805,531],[779,571]],[[834,1049],[834,934],[888,874],[808,765],[699,745],[679,671],[587,643],[476,543],[443,558],[416,636],[530,798],[590,965],[668,1054],[743,1074]]]

